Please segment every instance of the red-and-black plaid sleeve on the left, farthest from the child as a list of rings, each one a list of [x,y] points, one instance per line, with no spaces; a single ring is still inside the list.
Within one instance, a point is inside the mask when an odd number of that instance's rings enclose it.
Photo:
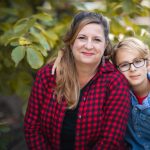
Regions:
[[[43,80],[44,73],[38,71],[32,91],[29,97],[28,107],[24,118],[24,133],[27,146],[31,150],[51,149],[41,132],[40,127],[40,106],[44,101],[45,88]]]

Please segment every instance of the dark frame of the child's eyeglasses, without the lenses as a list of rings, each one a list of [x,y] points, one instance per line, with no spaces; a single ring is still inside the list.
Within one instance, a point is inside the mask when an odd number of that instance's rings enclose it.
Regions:
[[[137,66],[134,64],[136,60],[143,60],[143,65],[137,67]],[[126,71],[128,71],[128,70],[131,69],[131,65],[133,65],[135,68],[141,68],[141,67],[143,67],[143,66],[145,65],[145,62],[147,62],[147,61],[148,61],[148,59],[146,59],[146,58],[137,58],[137,59],[135,59],[135,60],[134,60],[133,62],[131,62],[131,63],[129,63],[129,62],[126,63],[126,64],[129,64],[129,68],[128,68],[127,70],[122,71],[122,70],[120,69],[120,65],[122,65],[122,64],[118,65],[117,68],[118,68],[121,72],[126,72]]]

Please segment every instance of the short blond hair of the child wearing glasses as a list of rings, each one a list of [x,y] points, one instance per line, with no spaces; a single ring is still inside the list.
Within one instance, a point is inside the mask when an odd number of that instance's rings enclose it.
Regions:
[[[123,50],[138,51],[141,58],[150,58],[150,50],[144,42],[135,37],[127,37],[113,47],[111,59],[114,65],[116,65],[117,52]]]

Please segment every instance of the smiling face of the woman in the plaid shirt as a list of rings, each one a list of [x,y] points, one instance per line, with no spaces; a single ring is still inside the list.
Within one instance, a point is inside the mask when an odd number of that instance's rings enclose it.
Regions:
[[[103,27],[95,23],[84,26],[71,46],[76,65],[99,64],[105,47]]]

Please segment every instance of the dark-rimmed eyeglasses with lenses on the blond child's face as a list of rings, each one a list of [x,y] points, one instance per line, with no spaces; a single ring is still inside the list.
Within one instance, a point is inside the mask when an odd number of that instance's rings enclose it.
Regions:
[[[117,67],[121,72],[125,72],[125,71],[130,70],[131,64],[133,64],[135,68],[143,67],[145,65],[146,60],[147,59],[144,59],[144,58],[138,58],[138,59],[135,59],[132,63],[125,62],[125,63],[118,65]]]

